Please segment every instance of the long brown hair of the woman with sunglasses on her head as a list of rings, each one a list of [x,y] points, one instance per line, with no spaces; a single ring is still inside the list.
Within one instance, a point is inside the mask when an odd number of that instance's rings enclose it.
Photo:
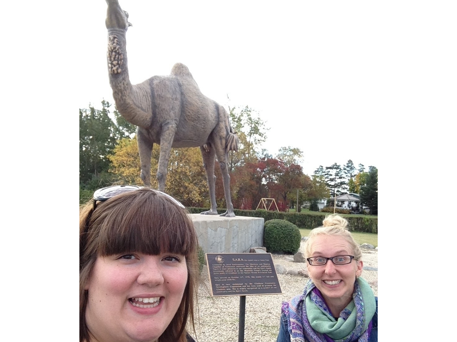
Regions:
[[[84,286],[99,256],[161,252],[186,256],[187,284],[181,304],[159,342],[186,341],[186,322],[193,330],[197,298],[197,234],[187,211],[150,188],[126,192],[104,202],[93,200],[80,210],[80,342],[89,342],[85,322],[88,292]]]

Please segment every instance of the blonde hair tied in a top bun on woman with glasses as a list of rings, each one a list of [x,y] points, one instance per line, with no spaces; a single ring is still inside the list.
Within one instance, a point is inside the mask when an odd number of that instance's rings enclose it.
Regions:
[[[318,235],[330,235],[330,236],[341,236],[345,238],[349,247],[354,252],[354,259],[360,260],[362,258],[362,252],[360,250],[359,245],[356,243],[352,234],[349,233],[347,229],[348,222],[345,218],[341,217],[338,214],[331,214],[327,215],[322,222],[322,226],[318,228],[314,228],[308,235],[308,239],[306,240],[303,246],[303,254],[305,254],[305,258],[311,257],[311,244],[314,238]]]

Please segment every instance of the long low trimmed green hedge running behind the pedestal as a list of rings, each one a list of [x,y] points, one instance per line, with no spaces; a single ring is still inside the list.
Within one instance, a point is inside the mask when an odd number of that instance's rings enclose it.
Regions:
[[[187,207],[191,214],[205,212],[209,208]],[[218,209],[222,214],[226,209]],[[240,210],[234,209],[237,216],[248,216],[264,218],[265,222],[273,219],[286,220],[292,222],[299,228],[314,229],[322,226],[325,215],[321,212],[277,212],[266,210]],[[357,232],[377,233],[377,217],[367,217],[363,215],[341,215],[349,222],[349,229]]]

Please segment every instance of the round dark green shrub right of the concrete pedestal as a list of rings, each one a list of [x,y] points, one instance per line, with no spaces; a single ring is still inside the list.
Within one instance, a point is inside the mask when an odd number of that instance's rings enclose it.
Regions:
[[[286,220],[266,221],[263,243],[267,252],[295,254],[300,248],[301,234],[298,227]]]

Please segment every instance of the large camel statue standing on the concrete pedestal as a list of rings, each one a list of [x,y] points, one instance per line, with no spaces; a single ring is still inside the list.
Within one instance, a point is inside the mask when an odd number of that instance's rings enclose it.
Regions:
[[[151,185],[153,144],[160,145],[157,170],[159,191],[165,190],[171,148],[199,146],[211,199],[211,209],[202,214],[218,213],[214,189],[217,156],[227,203],[227,211],[220,216],[234,217],[227,161],[228,151],[238,150],[238,137],[230,126],[227,111],[201,93],[189,69],[181,63],[172,67],[170,75],[153,76],[139,84],[130,83],[125,36],[132,24],[117,0],[106,0],[106,3],[110,85],[117,110],[128,122],[137,126],[140,176],[144,185]]]

